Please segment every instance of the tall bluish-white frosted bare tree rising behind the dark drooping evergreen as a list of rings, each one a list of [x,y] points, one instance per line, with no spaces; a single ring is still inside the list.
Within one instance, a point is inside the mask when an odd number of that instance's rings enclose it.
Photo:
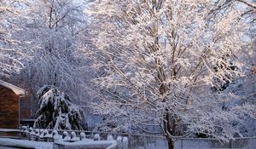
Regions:
[[[34,0],[24,7],[25,17],[15,20],[15,24],[22,25],[22,30],[14,32],[15,37],[30,41],[36,50],[26,69],[10,82],[23,84],[33,99],[44,84],[67,92],[76,103],[88,99],[86,89],[81,88],[81,84],[87,84],[81,74],[87,61],[76,53],[81,43],[79,33],[86,29],[82,6],[70,0]]]

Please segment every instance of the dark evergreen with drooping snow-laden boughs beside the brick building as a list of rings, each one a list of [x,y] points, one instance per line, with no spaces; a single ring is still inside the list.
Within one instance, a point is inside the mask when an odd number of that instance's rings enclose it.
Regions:
[[[55,86],[44,85],[38,90],[38,105],[38,118],[33,126],[35,128],[87,129],[83,110]]]

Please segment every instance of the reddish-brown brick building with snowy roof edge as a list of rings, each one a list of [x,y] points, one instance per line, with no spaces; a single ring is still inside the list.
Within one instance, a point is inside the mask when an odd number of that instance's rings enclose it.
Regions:
[[[26,91],[0,80],[0,129],[18,129],[20,125],[20,97]]]

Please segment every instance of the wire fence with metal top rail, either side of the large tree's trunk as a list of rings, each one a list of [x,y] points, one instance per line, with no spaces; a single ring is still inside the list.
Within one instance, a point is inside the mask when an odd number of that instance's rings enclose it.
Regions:
[[[164,137],[131,135],[128,138],[131,149],[168,149]],[[256,137],[236,138],[229,142],[211,138],[180,138],[175,141],[175,149],[256,149]]]

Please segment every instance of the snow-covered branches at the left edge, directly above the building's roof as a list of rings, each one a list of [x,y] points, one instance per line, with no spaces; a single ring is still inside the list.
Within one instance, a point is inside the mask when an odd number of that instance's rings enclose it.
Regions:
[[[0,77],[20,72],[28,59],[27,50],[24,49],[20,40],[13,36],[13,32],[20,30],[20,26],[12,23],[12,20],[21,17],[17,7],[20,0],[0,1]]]

